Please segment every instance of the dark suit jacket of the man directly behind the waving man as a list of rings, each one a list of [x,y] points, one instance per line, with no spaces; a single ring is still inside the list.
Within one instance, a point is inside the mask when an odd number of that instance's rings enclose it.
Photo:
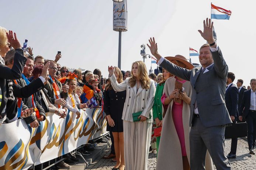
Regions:
[[[238,89],[233,83],[226,90],[225,103],[229,116],[238,117]]]

